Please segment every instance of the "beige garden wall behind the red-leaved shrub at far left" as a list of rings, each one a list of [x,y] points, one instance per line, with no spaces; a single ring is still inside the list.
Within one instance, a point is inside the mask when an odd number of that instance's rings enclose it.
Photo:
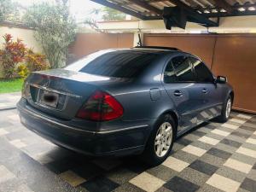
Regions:
[[[4,42],[3,35],[9,33],[13,36],[14,39],[22,39],[23,43],[26,44],[26,47],[32,48],[35,52],[42,53],[42,48],[34,38],[33,32],[33,30],[26,28],[0,26],[0,48],[2,47],[2,44]],[[3,78],[3,70],[1,70],[1,66],[0,78]]]

